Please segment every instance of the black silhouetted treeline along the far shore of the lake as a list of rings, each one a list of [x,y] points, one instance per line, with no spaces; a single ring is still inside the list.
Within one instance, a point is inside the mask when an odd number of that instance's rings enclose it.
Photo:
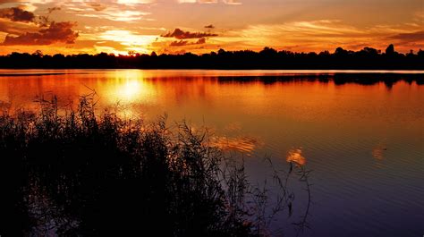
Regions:
[[[360,51],[295,53],[265,47],[260,52],[220,49],[204,55],[43,55],[13,53],[0,56],[0,68],[140,68],[140,69],[381,69],[424,70],[424,51],[401,54],[390,45],[385,52],[365,47]]]

